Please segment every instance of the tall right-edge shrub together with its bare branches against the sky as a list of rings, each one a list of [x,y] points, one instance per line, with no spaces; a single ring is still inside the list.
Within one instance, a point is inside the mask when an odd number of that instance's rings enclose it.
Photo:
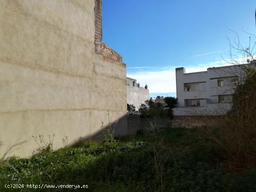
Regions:
[[[232,108],[223,118],[222,126],[206,127],[203,130],[208,138],[214,141],[227,154],[227,159],[222,161],[230,171],[247,172],[256,167],[256,60],[255,47],[256,37],[250,34],[250,48],[244,48],[237,36],[236,46],[231,46],[230,64],[236,70],[229,76],[238,76],[239,81],[235,84],[230,82],[235,92],[232,95]],[[251,38],[252,37],[252,38]],[[239,60],[247,60],[246,65]]]

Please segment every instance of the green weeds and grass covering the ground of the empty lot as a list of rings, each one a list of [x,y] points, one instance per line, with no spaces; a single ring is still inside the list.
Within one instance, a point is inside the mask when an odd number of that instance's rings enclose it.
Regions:
[[[256,171],[226,172],[220,163],[226,158],[214,142],[198,139],[197,130],[165,129],[6,159],[0,165],[0,191],[8,191],[7,183],[89,185],[85,191],[94,192],[255,191]]]

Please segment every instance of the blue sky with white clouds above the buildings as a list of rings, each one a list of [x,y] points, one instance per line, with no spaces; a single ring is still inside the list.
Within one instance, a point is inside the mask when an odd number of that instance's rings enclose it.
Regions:
[[[173,93],[175,67],[225,65],[229,29],[247,46],[243,30],[255,34],[255,8],[255,0],[102,0],[103,41],[150,93]]]

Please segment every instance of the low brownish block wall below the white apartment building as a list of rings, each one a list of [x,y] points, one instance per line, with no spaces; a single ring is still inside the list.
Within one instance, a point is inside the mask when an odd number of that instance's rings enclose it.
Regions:
[[[223,116],[220,115],[186,115],[174,116],[172,127],[202,127],[202,126],[222,126]]]

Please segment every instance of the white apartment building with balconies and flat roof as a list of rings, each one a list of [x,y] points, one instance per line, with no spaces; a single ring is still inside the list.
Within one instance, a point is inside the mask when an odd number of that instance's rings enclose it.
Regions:
[[[186,73],[184,67],[176,68],[179,107],[174,115],[225,114],[231,107],[241,66],[210,67],[195,73]]]

